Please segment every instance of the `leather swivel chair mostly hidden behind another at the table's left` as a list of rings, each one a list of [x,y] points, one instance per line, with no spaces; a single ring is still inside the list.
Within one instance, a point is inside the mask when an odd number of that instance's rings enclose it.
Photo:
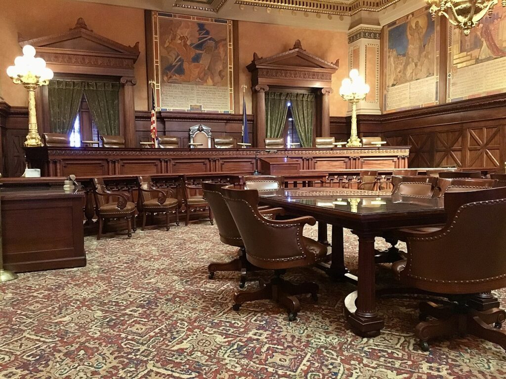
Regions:
[[[220,241],[229,246],[235,246],[239,248],[237,252],[238,257],[227,263],[213,262],[207,266],[209,271],[209,279],[212,279],[216,271],[240,271],[241,280],[239,283],[240,288],[244,288],[246,283],[246,273],[258,269],[251,265],[246,259],[246,253],[244,249],[244,243],[242,242],[241,235],[235,221],[232,218],[232,214],[225,203],[223,198],[222,187],[227,184],[224,183],[211,183],[203,182],[202,191],[204,198],[209,204],[209,208],[213,212],[214,220],[218,226],[218,232],[220,234]],[[281,208],[270,208],[260,210],[263,215],[270,215],[274,217],[277,214],[284,214]]]

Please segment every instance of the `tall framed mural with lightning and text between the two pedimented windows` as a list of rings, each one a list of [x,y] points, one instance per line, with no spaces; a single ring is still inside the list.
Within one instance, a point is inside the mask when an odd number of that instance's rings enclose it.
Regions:
[[[151,28],[156,108],[233,113],[232,21],[151,12]]]

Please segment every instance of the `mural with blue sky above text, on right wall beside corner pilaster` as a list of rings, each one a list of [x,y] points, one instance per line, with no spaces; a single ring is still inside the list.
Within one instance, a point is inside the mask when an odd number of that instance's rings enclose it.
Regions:
[[[438,104],[439,20],[426,7],[387,25],[385,38],[384,111]]]

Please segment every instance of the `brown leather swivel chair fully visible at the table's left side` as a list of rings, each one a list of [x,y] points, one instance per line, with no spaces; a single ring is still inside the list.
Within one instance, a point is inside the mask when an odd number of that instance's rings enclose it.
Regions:
[[[318,285],[306,282],[294,285],[281,278],[284,269],[303,267],[325,259],[327,247],[302,235],[305,224],[314,225],[313,217],[290,220],[270,220],[258,210],[259,193],[256,189],[223,188],[225,202],[234,218],[246,249],[249,263],[274,270],[274,278],[256,291],[241,291],[234,295],[234,310],[252,300],[273,299],[289,309],[290,321],[300,310],[294,295],[310,293],[317,299]]]

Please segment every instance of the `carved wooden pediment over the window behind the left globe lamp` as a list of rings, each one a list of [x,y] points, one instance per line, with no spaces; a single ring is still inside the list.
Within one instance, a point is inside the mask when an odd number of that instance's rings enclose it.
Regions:
[[[60,34],[20,40],[30,44],[56,73],[134,76],[139,42],[126,46],[94,33],[79,18],[75,27]]]

